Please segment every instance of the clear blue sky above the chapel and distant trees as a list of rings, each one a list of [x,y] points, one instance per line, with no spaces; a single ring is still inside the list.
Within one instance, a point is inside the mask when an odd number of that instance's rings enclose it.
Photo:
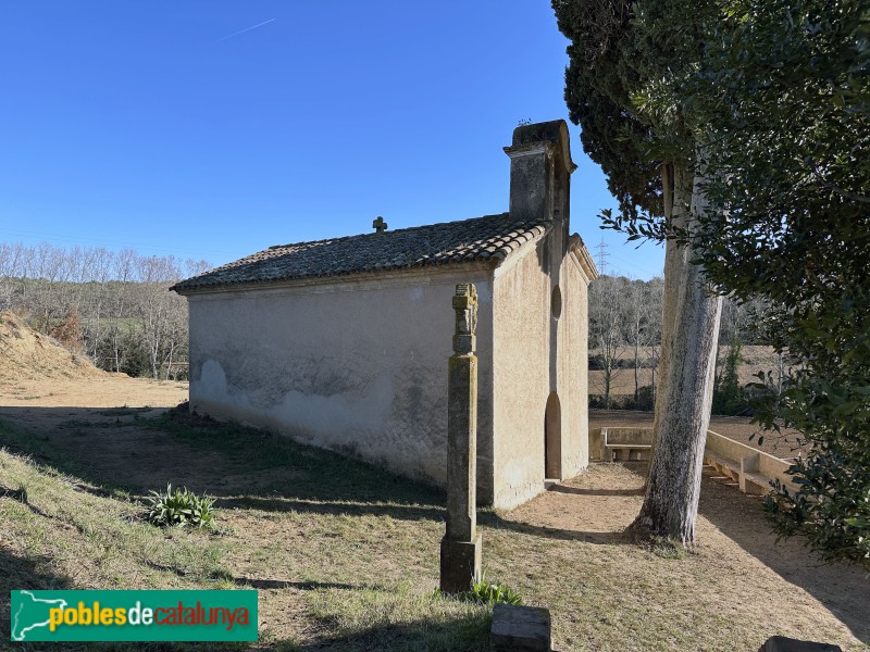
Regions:
[[[501,148],[567,118],[545,1],[54,0],[0,14],[0,239],[222,264],[271,244],[508,209]],[[663,253],[571,125],[572,230],[610,272]]]

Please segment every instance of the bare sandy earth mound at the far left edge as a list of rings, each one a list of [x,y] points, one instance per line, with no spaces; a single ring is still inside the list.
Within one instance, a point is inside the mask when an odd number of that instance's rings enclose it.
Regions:
[[[109,376],[89,358],[37,333],[17,315],[0,313],[0,380]]]

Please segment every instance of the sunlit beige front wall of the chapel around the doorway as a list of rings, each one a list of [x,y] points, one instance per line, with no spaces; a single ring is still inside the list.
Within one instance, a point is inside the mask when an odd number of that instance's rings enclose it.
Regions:
[[[559,234],[524,246],[493,285],[494,501],[518,505],[544,489],[547,398],[561,404],[561,478],[588,465],[586,369],[587,280]],[[551,313],[552,287],[562,309]]]

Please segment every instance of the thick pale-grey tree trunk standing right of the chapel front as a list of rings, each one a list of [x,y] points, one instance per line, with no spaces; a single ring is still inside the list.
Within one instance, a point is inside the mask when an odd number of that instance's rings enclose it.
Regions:
[[[676,166],[672,175],[669,218],[676,227],[692,228],[693,214],[705,210],[700,179],[693,185],[686,170]],[[669,176],[663,174],[663,180]],[[683,546],[695,540],[722,311],[721,297],[705,289],[704,271],[692,258],[688,244],[668,240],[652,457],[644,504],[632,524],[641,538],[663,537]]]

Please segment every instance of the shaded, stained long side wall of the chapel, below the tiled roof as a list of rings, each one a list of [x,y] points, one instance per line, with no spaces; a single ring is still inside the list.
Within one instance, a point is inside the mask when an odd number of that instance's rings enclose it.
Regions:
[[[395,472],[446,481],[458,283],[480,298],[478,500],[493,500],[488,268],[191,294],[190,405]]]

